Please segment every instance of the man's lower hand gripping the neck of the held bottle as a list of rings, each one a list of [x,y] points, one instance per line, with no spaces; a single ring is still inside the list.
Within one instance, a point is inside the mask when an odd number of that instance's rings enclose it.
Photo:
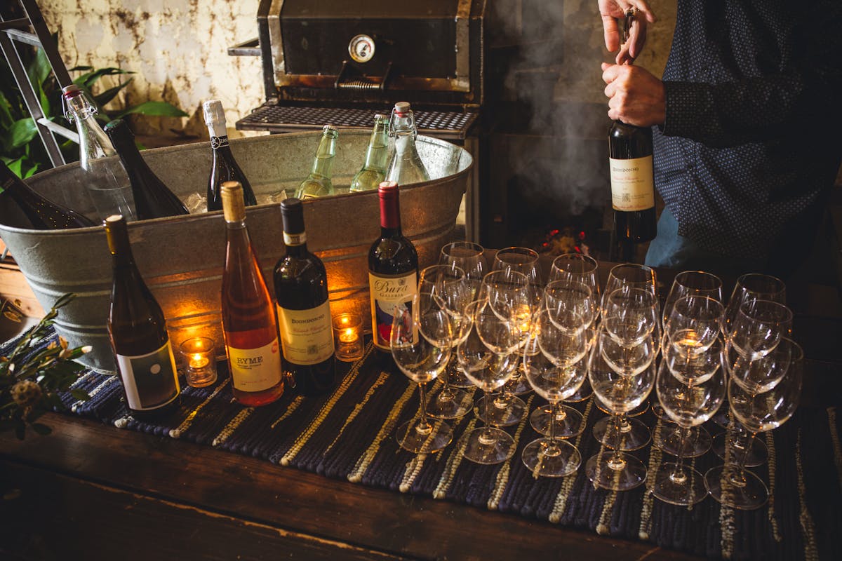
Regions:
[[[666,100],[663,82],[640,66],[602,63],[608,116],[638,127],[663,124]]]

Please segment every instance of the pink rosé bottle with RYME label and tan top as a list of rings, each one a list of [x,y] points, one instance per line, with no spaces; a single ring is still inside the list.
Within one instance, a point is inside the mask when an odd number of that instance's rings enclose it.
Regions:
[[[278,329],[272,298],[246,229],[242,186],[222,183],[226,222],[222,273],[222,332],[234,399],[242,405],[266,405],[284,393]]]

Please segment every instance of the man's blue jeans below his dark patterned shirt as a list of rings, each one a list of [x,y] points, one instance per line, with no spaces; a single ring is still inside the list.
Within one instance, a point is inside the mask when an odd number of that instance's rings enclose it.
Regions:
[[[649,243],[645,262],[650,267],[668,267],[676,271],[706,271],[734,277],[765,270],[765,260],[729,257],[706,250],[690,238],[679,236],[679,223],[669,211],[669,207],[661,213],[658,220],[658,236]]]

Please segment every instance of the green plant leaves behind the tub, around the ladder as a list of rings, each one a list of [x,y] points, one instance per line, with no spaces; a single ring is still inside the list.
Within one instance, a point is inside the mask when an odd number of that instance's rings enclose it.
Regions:
[[[35,94],[40,99],[41,108],[47,119],[62,124],[70,130],[75,130],[75,125],[67,121],[64,114],[64,106],[61,103],[61,87],[53,76],[50,63],[44,54],[44,50],[33,49],[25,51],[21,49],[24,56],[24,66],[29,80],[35,87]],[[70,69],[71,72],[81,72],[73,80],[73,83],[82,87],[88,97],[93,100],[99,108],[97,119],[107,123],[112,119],[119,119],[128,114],[144,114],[156,117],[187,117],[181,109],[171,103],[146,101],[126,107],[120,110],[104,110],[103,107],[112,101],[121,90],[128,86],[134,79],[127,77],[134,72],[125,71],[120,68],[99,68],[91,66],[77,66]],[[93,93],[98,82],[107,76],[126,76],[114,87],[109,87],[99,93]],[[77,161],[79,159],[79,146],[71,140],[61,140],[61,153],[65,161]],[[6,162],[8,167],[19,177],[29,177],[33,173],[51,167],[49,156],[47,156],[44,145],[41,143],[35,121],[29,116],[29,110],[24,103],[24,96],[20,93],[14,81],[11,69],[5,61],[0,61],[0,160]]]

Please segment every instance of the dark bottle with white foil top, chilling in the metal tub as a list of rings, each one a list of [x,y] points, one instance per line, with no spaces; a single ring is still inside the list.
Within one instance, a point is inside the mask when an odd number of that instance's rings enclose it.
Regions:
[[[210,133],[210,148],[213,150],[213,163],[210,166],[208,179],[208,212],[222,209],[220,186],[226,181],[238,181],[242,185],[242,195],[246,206],[258,204],[254,198],[252,186],[248,183],[246,174],[237,165],[237,160],[228,146],[228,130],[226,129],[225,111],[218,99],[211,99],[202,103],[205,114],[205,124]]]

